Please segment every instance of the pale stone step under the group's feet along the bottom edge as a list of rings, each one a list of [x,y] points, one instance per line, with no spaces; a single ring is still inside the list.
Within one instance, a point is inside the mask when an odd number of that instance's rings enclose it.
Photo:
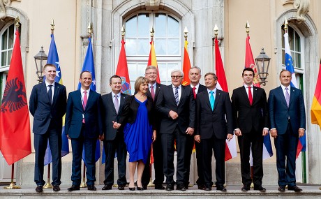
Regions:
[[[145,199],[145,198],[321,198],[321,190],[319,186],[307,186],[300,185],[299,187],[303,189],[301,193],[295,193],[294,191],[285,191],[281,193],[278,191],[278,186],[264,186],[267,191],[260,192],[251,191],[243,192],[241,191],[241,186],[227,186],[227,191],[216,191],[216,188],[213,187],[212,191],[202,191],[198,190],[197,186],[190,187],[186,191],[163,191],[155,190],[154,187],[149,187],[144,191],[129,191],[128,187],[124,191],[119,191],[117,188],[113,187],[112,190],[103,191],[101,188],[102,185],[98,185],[97,191],[88,191],[86,188],[80,189],[80,191],[69,192],[68,186],[61,186],[61,191],[54,192],[52,189],[44,189],[43,193],[36,193],[35,188],[31,186],[22,186],[22,189],[3,189],[3,186],[0,186],[0,198],[68,198],[68,199],[96,199],[96,198],[121,198],[121,199]],[[176,189],[176,187],[175,187]]]

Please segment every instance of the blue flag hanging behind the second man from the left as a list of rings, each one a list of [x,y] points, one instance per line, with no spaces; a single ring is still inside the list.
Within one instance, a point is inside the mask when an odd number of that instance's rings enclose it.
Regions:
[[[82,65],[82,71],[89,71],[91,73],[91,77],[93,82],[90,84],[90,89],[96,91],[96,78],[95,78],[95,67],[94,67],[94,53],[93,47],[91,46],[91,37],[88,38],[89,44],[87,48],[86,57],[84,57],[84,64]],[[78,90],[82,87],[82,84],[78,84]],[[95,161],[98,161],[100,158],[100,142],[97,140],[96,144],[96,151],[95,151]],[[82,160],[86,164],[85,157],[84,157],[84,147],[82,149]]]

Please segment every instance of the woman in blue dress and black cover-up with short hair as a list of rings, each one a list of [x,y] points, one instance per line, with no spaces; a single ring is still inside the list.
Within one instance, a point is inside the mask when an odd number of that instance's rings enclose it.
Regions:
[[[129,190],[135,190],[134,175],[137,168],[137,190],[142,188],[142,172],[147,161],[151,142],[156,140],[154,130],[153,99],[146,96],[148,82],[144,77],[135,82],[135,95],[126,99],[124,110],[114,128],[124,126],[124,138],[129,153]]]

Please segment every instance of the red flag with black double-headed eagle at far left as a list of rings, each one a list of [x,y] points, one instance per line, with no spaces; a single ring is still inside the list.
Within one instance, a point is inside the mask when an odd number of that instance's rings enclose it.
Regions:
[[[0,150],[8,165],[31,154],[29,110],[23,71],[17,29],[0,112]]]

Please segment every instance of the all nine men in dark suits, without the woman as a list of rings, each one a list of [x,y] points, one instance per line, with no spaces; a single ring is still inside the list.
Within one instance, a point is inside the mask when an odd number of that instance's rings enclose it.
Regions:
[[[36,151],[36,191],[42,192],[43,162],[47,140],[53,158],[53,190],[59,191],[61,184],[61,126],[66,113],[66,135],[73,148],[73,185],[68,191],[80,189],[81,159],[87,165],[87,186],[96,191],[95,150],[96,140],[103,140],[105,180],[103,190],[112,189],[114,182],[114,154],[118,160],[118,189],[126,185],[126,144],[124,132],[112,128],[119,120],[128,95],[121,93],[121,78],[110,78],[110,94],[100,96],[90,89],[92,76],[89,71],[80,74],[81,88],[70,92],[66,99],[66,87],[54,82],[56,67],[47,64],[43,73],[45,81],[33,87],[30,96],[30,112],[33,115],[34,146]],[[211,156],[216,159],[216,189],[226,191],[225,184],[225,140],[237,135],[241,154],[242,191],[250,189],[250,150],[253,155],[254,189],[262,187],[263,136],[275,138],[279,191],[301,191],[295,182],[295,153],[299,137],[304,135],[306,120],[304,99],[299,89],[290,87],[291,73],[280,73],[281,87],[273,89],[269,101],[264,89],[253,86],[254,71],[244,68],[244,86],[234,89],[232,103],[227,92],[216,88],[215,73],[204,75],[205,86],[200,84],[201,70],[194,66],[189,71],[190,85],[182,85],[184,73],[174,70],[172,84],[165,86],[156,82],[158,71],[148,66],[145,78],[149,82],[147,96],[154,101],[157,140],[153,143],[155,189],[186,191],[189,185],[191,153],[194,146],[197,158],[197,187],[210,191],[214,184],[211,178]],[[174,182],[174,150],[177,150],[177,181]],[[286,159],[286,161],[285,161]],[[148,164],[147,164],[148,165]],[[164,175],[166,177],[163,186]],[[142,186],[147,189],[150,168],[146,166]]]

